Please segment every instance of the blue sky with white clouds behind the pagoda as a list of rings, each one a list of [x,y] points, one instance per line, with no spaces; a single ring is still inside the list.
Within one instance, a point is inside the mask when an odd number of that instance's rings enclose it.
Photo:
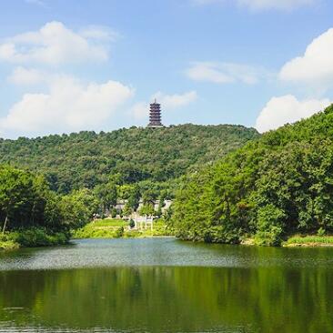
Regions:
[[[259,132],[333,101],[331,0],[0,1],[0,137],[164,125]]]

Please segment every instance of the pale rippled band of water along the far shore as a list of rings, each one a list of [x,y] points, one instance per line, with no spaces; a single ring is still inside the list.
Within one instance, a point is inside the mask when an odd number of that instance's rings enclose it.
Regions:
[[[68,247],[0,252],[0,271],[119,266],[330,267],[333,248],[235,247],[136,238],[86,239]]]

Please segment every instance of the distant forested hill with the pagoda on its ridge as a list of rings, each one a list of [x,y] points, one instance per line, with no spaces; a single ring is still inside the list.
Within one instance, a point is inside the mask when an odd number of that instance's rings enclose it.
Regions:
[[[42,173],[53,189],[68,193],[110,178],[118,185],[168,182],[257,136],[244,126],[182,125],[0,139],[0,163]]]

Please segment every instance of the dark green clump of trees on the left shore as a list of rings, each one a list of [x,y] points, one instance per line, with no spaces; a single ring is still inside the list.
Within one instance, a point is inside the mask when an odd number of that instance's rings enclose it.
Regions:
[[[45,177],[12,166],[0,166],[0,226],[3,233],[35,228],[68,232],[85,225],[97,207],[98,200],[88,189],[60,196],[49,188]]]

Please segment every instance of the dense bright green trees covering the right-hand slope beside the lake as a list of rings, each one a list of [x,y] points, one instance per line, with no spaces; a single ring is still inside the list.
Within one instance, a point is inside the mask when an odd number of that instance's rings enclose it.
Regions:
[[[178,237],[279,245],[333,232],[333,106],[271,131],[190,174],[177,193]]]

